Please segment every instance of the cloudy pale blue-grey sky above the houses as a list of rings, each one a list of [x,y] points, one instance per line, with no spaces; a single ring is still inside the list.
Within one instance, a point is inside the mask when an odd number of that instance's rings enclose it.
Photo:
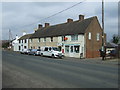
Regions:
[[[82,1],[82,0],[81,0]],[[101,2],[83,3],[49,17],[59,11],[62,11],[78,2],[2,2],[2,39],[9,38],[9,29],[12,37],[21,36],[23,32],[33,33],[38,24],[50,23],[50,25],[60,24],[72,18],[78,20],[79,15],[85,15],[85,18],[97,16],[101,24],[102,21],[102,4]],[[0,3],[1,4],[1,3]],[[118,34],[118,2],[104,3],[104,21],[107,41],[112,39],[113,34]],[[44,20],[42,20],[44,19]],[[102,25],[102,24],[101,24]]]

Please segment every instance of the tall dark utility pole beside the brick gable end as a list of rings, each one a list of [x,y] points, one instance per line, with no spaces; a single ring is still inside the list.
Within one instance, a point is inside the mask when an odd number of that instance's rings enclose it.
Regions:
[[[105,47],[104,47],[104,0],[102,0],[102,60],[105,58]]]

